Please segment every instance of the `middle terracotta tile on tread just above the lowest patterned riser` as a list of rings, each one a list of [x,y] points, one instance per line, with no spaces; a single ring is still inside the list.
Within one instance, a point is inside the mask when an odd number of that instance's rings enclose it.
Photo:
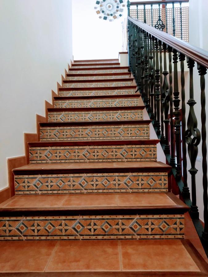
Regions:
[[[117,206],[116,194],[67,195],[62,207],[66,206]]]

